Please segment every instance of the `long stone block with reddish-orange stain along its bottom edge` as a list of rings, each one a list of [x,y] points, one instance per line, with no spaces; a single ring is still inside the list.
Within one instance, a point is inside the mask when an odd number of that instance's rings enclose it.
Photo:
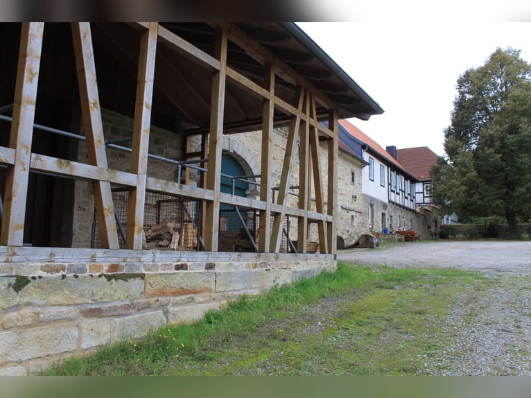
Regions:
[[[216,275],[209,271],[180,271],[171,274],[146,275],[146,296],[164,297],[212,292]]]

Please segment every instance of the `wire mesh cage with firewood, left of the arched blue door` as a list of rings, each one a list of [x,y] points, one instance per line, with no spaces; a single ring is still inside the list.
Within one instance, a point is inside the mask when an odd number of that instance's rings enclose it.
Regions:
[[[127,189],[112,189],[120,248],[125,248],[128,199]],[[147,191],[144,205],[143,249],[198,250],[199,205],[199,200],[176,198],[164,193]],[[101,248],[96,211],[94,211],[92,248]]]

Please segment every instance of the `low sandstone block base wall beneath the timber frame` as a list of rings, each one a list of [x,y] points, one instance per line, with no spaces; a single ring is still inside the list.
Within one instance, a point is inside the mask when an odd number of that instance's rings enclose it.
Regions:
[[[33,374],[336,267],[331,255],[0,251],[0,375]],[[67,261],[73,252],[79,261]]]

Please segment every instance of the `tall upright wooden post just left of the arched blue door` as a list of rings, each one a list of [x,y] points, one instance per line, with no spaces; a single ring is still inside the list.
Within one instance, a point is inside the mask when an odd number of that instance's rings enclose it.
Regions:
[[[209,163],[207,189],[214,191],[214,199],[207,201],[204,250],[218,251],[221,185],[221,149],[223,144],[223,110],[225,108],[225,78],[227,76],[227,31],[216,30],[215,58],[220,69],[212,79],[212,98],[209,135]]]

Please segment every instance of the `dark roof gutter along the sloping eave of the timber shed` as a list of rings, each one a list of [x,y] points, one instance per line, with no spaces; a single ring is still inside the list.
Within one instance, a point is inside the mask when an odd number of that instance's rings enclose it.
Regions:
[[[372,114],[383,114],[383,109],[369,94],[367,94],[332,58],[325,53],[321,47],[315,43],[295,22],[279,22],[295,39],[299,40],[315,57],[323,62],[333,73],[335,73],[343,83],[345,83],[357,96],[360,97],[372,110]],[[367,119],[369,119],[367,117]]]

